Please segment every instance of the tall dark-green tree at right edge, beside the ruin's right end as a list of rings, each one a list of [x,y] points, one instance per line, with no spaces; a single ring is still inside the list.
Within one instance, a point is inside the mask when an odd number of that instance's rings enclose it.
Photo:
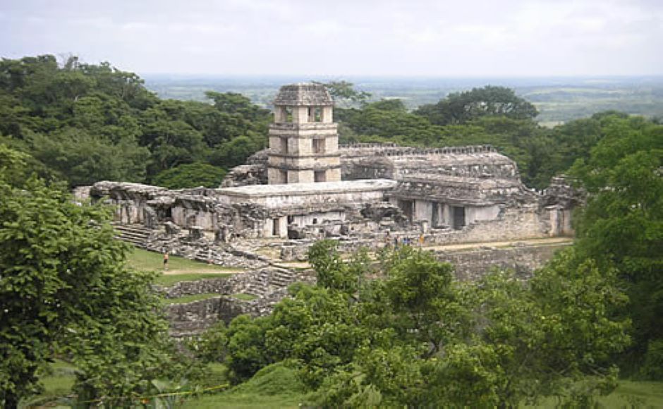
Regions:
[[[618,115],[601,121],[601,140],[571,169],[588,191],[578,248],[619,271],[635,338],[625,361],[640,362],[663,339],[663,126]]]

